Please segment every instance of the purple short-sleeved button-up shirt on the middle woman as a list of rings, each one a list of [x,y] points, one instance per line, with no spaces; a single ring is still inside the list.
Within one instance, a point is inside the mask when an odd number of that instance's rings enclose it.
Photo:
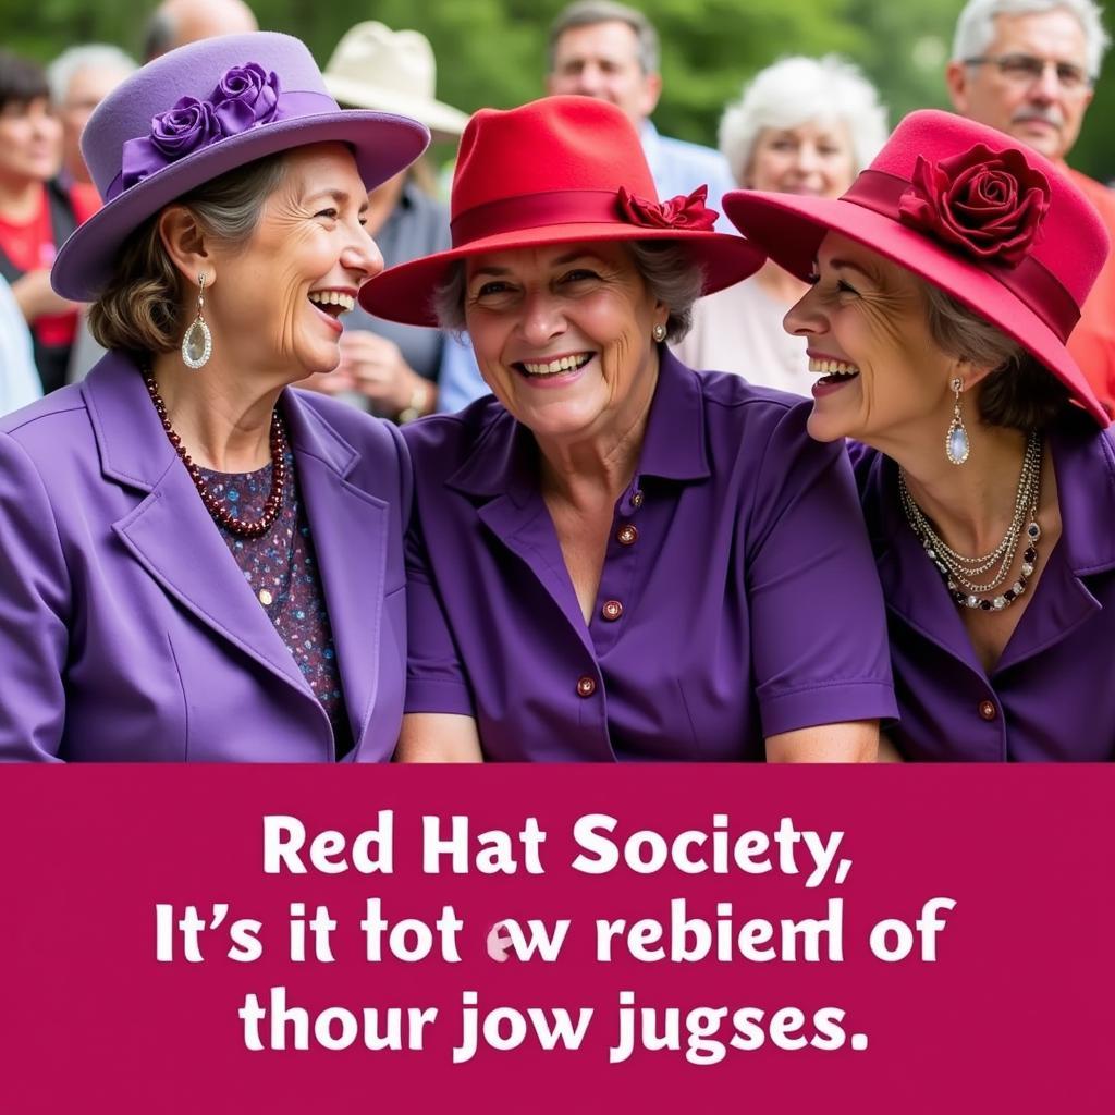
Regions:
[[[491,397],[404,428],[406,711],[475,717],[489,759],[760,759],[895,712],[843,448],[808,404],[661,352],[588,624],[530,430]]]

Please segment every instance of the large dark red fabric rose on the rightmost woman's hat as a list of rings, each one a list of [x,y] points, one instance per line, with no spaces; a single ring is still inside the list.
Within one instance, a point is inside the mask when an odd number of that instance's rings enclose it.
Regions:
[[[985,144],[939,163],[921,155],[899,220],[981,260],[1017,266],[1049,210],[1049,183],[1020,151]]]

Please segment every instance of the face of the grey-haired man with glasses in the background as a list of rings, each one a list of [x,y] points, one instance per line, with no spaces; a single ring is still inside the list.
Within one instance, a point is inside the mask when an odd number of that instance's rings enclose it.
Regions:
[[[997,16],[983,57],[1039,59],[1046,65],[1037,77],[1027,76],[1017,64],[950,64],[949,93],[957,112],[1015,136],[1047,158],[1064,158],[1092,100],[1087,83],[1066,84],[1056,71],[1060,64],[1087,74],[1087,40],[1079,20],[1064,8]]]

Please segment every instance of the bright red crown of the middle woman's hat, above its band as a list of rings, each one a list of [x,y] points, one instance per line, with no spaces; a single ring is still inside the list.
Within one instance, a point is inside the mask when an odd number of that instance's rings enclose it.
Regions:
[[[453,216],[510,197],[620,187],[658,197],[639,134],[622,110],[592,97],[544,97],[472,117],[457,155]]]

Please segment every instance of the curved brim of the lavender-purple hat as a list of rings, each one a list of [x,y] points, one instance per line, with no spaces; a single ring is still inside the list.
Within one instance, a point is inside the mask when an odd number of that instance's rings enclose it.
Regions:
[[[261,125],[171,163],[125,190],[81,224],[59,249],[50,283],[64,298],[95,299],[112,278],[128,236],[164,205],[255,159],[317,143],[348,144],[369,191],[409,166],[429,144],[417,120],[345,109]]]

